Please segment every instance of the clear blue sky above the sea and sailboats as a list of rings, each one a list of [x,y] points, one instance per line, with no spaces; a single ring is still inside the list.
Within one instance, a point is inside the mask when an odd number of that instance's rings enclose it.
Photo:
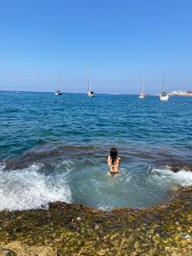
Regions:
[[[0,90],[192,90],[191,0],[0,0]]]

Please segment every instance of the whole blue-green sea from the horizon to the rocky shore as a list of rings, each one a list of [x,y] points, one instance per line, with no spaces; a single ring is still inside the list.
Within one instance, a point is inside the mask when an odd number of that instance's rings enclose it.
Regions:
[[[162,205],[192,185],[191,150],[192,97],[0,91],[0,210]]]

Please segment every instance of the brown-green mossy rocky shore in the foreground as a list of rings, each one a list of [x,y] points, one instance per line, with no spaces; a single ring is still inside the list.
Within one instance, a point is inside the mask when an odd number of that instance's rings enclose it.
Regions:
[[[93,210],[51,203],[49,210],[0,212],[0,255],[191,255],[192,188],[167,205]]]

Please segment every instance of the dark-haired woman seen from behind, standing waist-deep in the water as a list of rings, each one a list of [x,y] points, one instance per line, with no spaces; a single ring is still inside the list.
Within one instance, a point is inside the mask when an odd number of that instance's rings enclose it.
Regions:
[[[111,148],[110,156],[107,158],[107,165],[110,167],[110,174],[118,174],[120,172],[120,157],[117,157],[116,148]]]

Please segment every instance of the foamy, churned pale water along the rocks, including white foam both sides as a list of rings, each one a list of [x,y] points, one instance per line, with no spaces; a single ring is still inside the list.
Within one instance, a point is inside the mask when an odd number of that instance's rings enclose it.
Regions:
[[[51,164],[33,164],[23,170],[1,170],[0,210],[47,208],[48,203],[65,201],[111,210],[130,206],[157,205],[167,198],[172,187],[192,185],[192,173],[181,170],[146,170],[139,173],[121,168],[111,176],[104,166],[78,165],[72,160]],[[89,162],[89,164],[93,164]],[[81,167],[81,170],[80,170]]]

